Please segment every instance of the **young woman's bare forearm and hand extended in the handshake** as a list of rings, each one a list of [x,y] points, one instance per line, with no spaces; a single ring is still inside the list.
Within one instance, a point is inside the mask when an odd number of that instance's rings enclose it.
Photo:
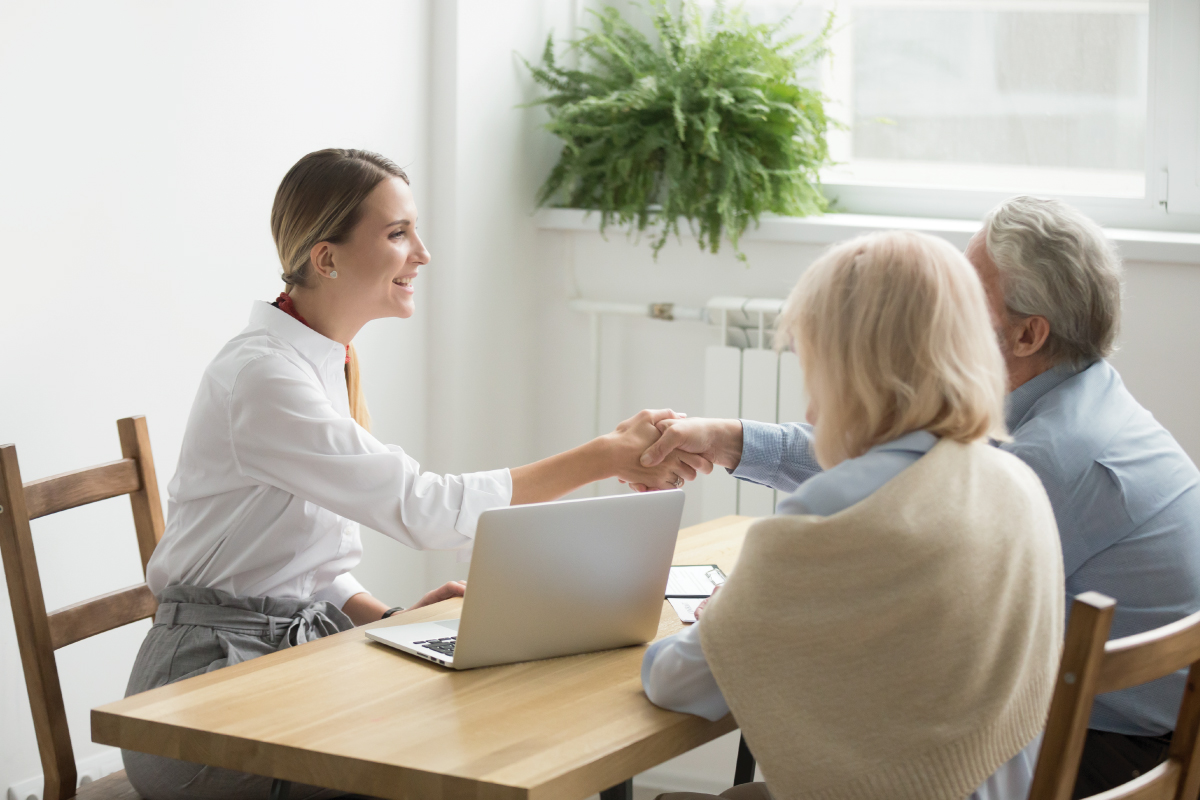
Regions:
[[[671,452],[654,467],[642,467],[642,452],[661,435],[655,426],[678,416],[671,409],[638,411],[612,433],[509,470],[512,475],[512,505],[554,500],[607,477],[619,477],[626,483],[640,483],[650,489],[671,489],[695,480],[697,471],[712,471],[713,465],[702,456],[682,450]]]

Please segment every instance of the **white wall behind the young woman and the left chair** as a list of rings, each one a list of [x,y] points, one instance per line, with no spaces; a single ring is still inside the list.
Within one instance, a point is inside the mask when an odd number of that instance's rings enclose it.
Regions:
[[[0,443],[26,480],[119,457],[114,421],[144,414],[166,499],[200,373],[281,289],[288,167],[374,149],[426,203],[428,26],[416,0],[0,4]],[[360,344],[379,432],[420,457],[424,311]],[[124,499],[34,536],[49,608],[140,579]],[[389,545],[367,541],[403,567]],[[101,750],[88,709],[124,694],[148,625],[59,652],[77,757]],[[0,792],[41,771],[0,593]]]

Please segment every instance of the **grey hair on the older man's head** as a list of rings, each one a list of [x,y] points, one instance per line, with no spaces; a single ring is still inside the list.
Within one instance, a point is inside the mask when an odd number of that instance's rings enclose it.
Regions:
[[[1114,350],[1121,327],[1121,257],[1104,231],[1058,200],[1014,197],[984,218],[988,254],[1009,313],[1045,317],[1045,354],[1090,362]]]

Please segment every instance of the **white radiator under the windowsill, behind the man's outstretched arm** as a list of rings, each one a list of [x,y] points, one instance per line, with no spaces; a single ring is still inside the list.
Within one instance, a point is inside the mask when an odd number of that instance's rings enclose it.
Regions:
[[[714,297],[725,344],[704,353],[704,416],[800,422],[808,399],[793,353],[772,349],[772,325],[782,302]],[[766,517],[775,512],[775,489],[739,481],[724,469],[701,477],[704,519],[731,513]]]

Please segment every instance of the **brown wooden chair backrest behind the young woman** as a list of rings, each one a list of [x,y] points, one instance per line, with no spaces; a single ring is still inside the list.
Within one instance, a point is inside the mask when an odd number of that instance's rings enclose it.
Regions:
[[[17,447],[0,446],[0,557],[17,644],[25,670],[34,729],[46,776],[44,800],[76,794],[76,763],[54,651],[121,625],[154,616],[157,601],[146,584],[120,589],[46,612],[29,522],[67,509],[128,494],[142,554],[142,573],[162,537],[162,504],[143,416],[116,421],[120,461],[22,483]]]

